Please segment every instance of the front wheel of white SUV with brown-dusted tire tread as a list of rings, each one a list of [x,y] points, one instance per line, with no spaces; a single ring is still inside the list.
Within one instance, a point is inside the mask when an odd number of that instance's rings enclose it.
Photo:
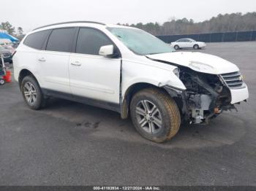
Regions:
[[[138,133],[157,143],[173,138],[181,125],[176,102],[167,93],[154,88],[140,90],[132,97],[130,113]]]

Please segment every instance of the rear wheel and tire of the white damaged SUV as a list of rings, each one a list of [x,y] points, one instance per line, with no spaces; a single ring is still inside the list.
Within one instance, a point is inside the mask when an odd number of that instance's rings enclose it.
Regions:
[[[20,90],[30,109],[38,110],[45,106],[45,98],[36,79],[32,76],[23,78]]]

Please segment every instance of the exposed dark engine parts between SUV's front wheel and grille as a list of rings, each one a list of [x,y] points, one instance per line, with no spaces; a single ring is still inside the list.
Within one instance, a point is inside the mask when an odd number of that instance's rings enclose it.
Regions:
[[[220,77],[181,69],[180,79],[187,87],[187,106],[193,123],[208,122],[223,109],[231,109],[230,90]]]

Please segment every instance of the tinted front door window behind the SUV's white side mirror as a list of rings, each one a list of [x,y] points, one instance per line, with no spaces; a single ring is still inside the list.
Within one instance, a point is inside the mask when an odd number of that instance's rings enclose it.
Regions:
[[[87,55],[99,55],[99,48],[113,44],[108,36],[93,28],[80,28],[76,52]]]

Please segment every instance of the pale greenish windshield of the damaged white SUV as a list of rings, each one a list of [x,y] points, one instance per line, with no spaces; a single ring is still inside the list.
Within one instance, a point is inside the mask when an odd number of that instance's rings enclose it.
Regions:
[[[132,50],[132,52],[138,55],[153,55],[175,51],[156,36],[140,29],[109,27],[108,30],[123,42],[129,50]]]

